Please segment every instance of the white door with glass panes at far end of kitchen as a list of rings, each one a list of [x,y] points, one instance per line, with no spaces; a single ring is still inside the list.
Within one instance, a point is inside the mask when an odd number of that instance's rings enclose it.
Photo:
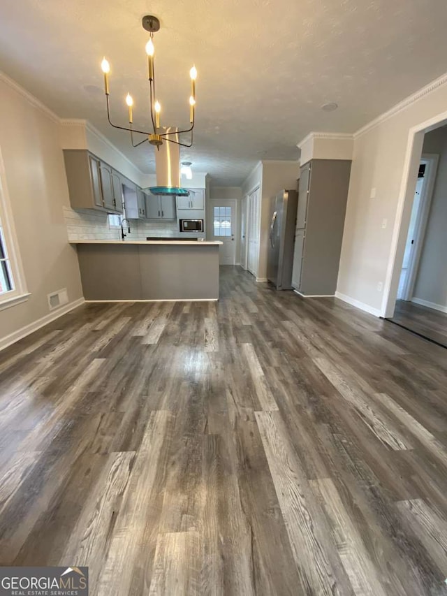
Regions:
[[[236,262],[236,201],[234,199],[212,200],[212,238],[223,243],[219,250],[219,265]]]

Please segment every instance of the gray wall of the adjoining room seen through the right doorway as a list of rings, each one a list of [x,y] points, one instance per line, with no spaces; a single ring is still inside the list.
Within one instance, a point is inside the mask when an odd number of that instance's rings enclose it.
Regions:
[[[439,164],[413,297],[447,310],[446,126],[425,135],[423,153],[439,154]]]

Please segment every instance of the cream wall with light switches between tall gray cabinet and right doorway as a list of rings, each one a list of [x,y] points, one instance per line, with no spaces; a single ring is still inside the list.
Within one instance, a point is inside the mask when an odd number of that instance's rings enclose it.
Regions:
[[[417,177],[416,161],[410,163],[409,157],[419,159],[423,143],[420,134],[411,146],[411,129],[434,117],[441,119],[447,106],[446,81],[444,77],[421,89],[354,136],[337,292],[374,314],[385,314],[388,295],[397,292],[398,275],[392,278],[391,273],[395,257],[397,270],[402,266],[411,214],[404,197],[414,194]]]

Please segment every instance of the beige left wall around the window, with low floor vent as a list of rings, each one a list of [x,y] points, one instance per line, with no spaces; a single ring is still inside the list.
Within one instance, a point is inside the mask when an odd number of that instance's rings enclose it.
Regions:
[[[0,75],[0,147],[29,299],[0,311],[1,340],[49,314],[47,294],[82,298],[76,251],[68,244],[68,187],[59,121]]]

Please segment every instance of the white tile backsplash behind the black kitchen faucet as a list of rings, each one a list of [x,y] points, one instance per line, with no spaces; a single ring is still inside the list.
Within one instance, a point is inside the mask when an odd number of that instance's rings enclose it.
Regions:
[[[106,213],[91,209],[74,211],[64,207],[68,240],[120,240],[121,229],[110,228]],[[177,237],[176,221],[131,219],[131,233],[126,240],[146,240],[147,236]]]

